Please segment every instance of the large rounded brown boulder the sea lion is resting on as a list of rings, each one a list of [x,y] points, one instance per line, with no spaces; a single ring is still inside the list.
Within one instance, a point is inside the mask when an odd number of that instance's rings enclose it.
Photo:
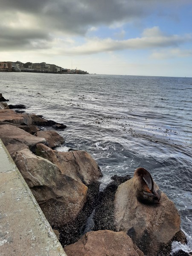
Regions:
[[[148,256],[156,255],[180,230],[180,215],[162,192],[160,204],[140,203],[134,194],[134,178],[122,183],[115,195],[115,224]],[[157,186],[157,184],[155,184]]]

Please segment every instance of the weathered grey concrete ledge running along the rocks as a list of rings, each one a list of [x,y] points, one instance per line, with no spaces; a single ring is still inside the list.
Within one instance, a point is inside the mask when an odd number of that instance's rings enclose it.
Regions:
[[[0,256],[67,256],[0,140]]]

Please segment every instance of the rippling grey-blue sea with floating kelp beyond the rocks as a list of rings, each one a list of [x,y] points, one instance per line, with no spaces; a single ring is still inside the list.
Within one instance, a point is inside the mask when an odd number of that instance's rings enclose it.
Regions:
[[[192,251],[192,78],[0,72],[0,93],[67,125],[57,150],[89,152],[101,190],[113,175],[147,169],[175,203]]]

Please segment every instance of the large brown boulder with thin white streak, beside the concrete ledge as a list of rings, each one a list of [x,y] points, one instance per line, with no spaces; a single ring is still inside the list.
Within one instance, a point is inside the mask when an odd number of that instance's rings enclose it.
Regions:
[[[51,225],[61,227],[77,217],[86,202],[87,186],[29,149],[17,151],[13,158]]]

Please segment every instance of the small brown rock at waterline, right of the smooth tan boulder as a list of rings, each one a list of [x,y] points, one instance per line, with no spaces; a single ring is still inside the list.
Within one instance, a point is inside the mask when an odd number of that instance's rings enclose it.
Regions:
[[[35,136],[45,138],[50,148],[55,148],[64,143],[64,138],[56,131],[38,131]]]

